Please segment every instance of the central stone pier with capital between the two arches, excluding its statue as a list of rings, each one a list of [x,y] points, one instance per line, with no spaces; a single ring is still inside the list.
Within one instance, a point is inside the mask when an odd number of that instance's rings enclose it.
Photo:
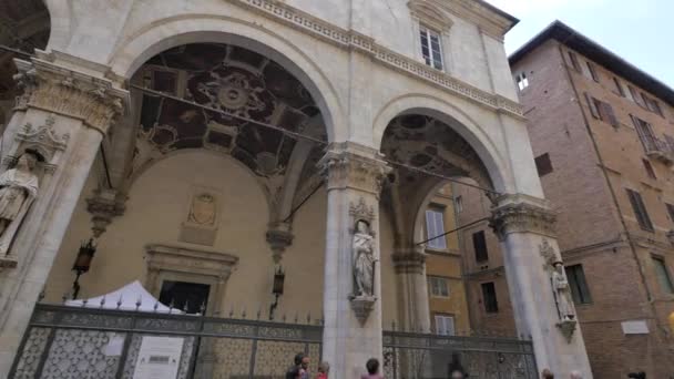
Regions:
[[[323,359],[330,377],[359,378],[369,358],[381,356],[380,265],[372,296],[355,296],[353,244],[358,221],[369,224],[379,259],[379,194],[389,168],[380,154],[350,142],[333,144],[319,165],[327,174]]]

